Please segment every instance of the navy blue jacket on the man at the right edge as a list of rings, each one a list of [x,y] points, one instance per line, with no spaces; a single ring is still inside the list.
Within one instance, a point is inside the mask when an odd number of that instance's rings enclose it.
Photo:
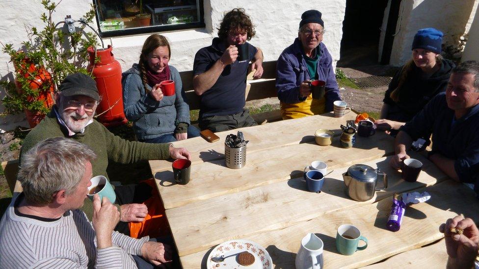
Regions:
[[[462,118],[455,120],[454,111],[446,103],[446,94],[431,99],[414,118],[399,130],[413,140],[429,137],[432,150],[455,160],[454,169],[459,180],[474,183],[479,190],[479,105]]]

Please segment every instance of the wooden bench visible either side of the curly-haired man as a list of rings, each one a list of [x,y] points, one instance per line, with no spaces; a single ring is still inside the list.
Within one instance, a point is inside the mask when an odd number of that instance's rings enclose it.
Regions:
[[[265,98],[277,98],[276,94],[276,61],[263,63],[264,73],[260,79],[253,80],[254,72],[249,72],[246,80],[245,100],[261,100]],[[250,65],[251,70],[251,65]],[[189,109],[200,109],[200,97],[193,91],[193,71],[180,72],[183,89],[189,103]],[[280,110],[251,115],[258,123],[275,122],[281,120]]]

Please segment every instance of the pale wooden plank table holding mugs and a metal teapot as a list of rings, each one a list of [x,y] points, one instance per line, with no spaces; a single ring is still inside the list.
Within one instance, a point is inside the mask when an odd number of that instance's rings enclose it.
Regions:
[[[202,138],[175,142],[175,147],[186,147],[192,153],[187,185],[172,183],[170,161],[150,161],[183,268],[205,268],[213,246],[232,239],[254,241],[267,249],[275,267],[294,268],[300,240],[310,232],[324,242],[326,268],[362,267],[397,254],[382,262],[384,266],[391,266],[388,261],[393,259],[407,265],[408,260],[400,255],[445,249],[443,242],[420,248],[443,237],[438,230],[443,221],[459,213],[479,219],[473,191],[449,180],[422,155],[412,154],[424,164],[418,181],[403,181],[389,166],[393,138],[383,132],[357,137],[352,148],[340,147],[340,124],[354,118],[354,113],[340,119],[328,113],[242,128],[250,142],[246,166],[238,170],[225,166],[223,154],[226,135],[236,130],[218,133],[220,141],[213,144]],[[334,130],[331,146],[315,144],[314,133],[319,128]],[[315,160],[324,161],[328,171],[334,170],[320,194],[308,192],[302,180],[304,167]],[[357,163],[386,172],[387,190],[365,202],[346,196],[342,174]],[[431,199],[408,207],[401,229],[388,231],[393,194],[412,190],[427,191]],[[345,223],[361,230],[369,240],[368,248],[352,256],[336,251],[336,229]]]

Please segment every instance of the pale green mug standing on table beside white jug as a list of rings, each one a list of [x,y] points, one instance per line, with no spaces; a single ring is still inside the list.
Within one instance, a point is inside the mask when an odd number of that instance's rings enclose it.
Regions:
[[[366,243],[363,246],[358,246],[359,241]],[[356,250],[363,250],[368,247],[368,239],[361,235],[358,228],[350,224],[343,224],[339,226],[336,233],[336,249],[343,255],[352,255]]]

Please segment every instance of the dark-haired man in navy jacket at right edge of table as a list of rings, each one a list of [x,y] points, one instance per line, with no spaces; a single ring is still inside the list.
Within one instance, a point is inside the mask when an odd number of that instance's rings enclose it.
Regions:
[[[391,166],[409,158],[413,141],[432,134],[428,158],[455,181],[475,184],[479,194],[479,62],[466,61],[452,70],[446,93],[399,129]]]

